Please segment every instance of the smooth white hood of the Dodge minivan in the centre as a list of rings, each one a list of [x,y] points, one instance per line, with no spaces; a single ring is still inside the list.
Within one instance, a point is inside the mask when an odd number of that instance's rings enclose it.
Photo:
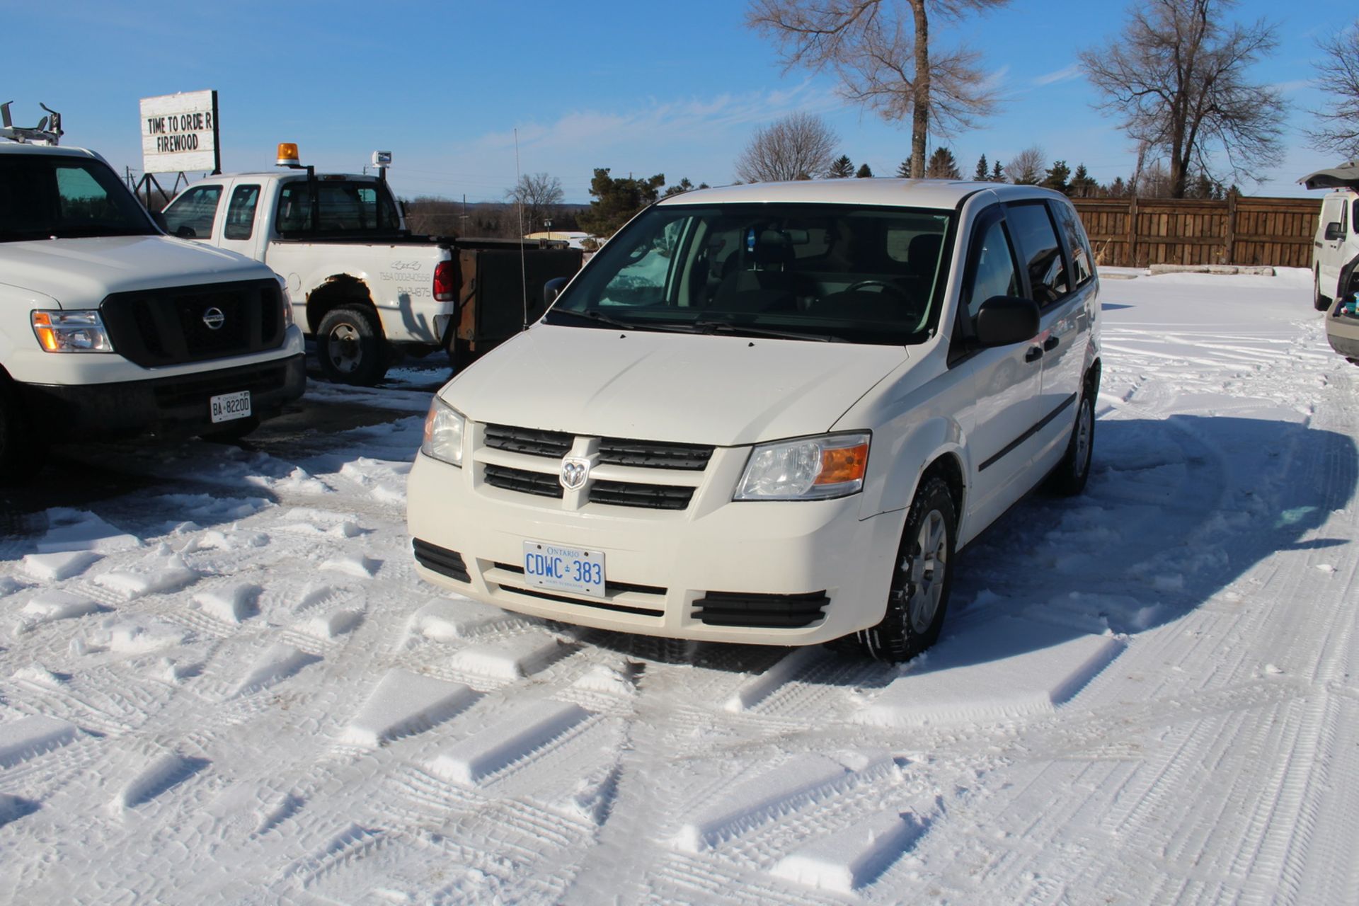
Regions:
[[[718,447],[825,432],[902,346],[538,323],[440,395],[473,421]]]

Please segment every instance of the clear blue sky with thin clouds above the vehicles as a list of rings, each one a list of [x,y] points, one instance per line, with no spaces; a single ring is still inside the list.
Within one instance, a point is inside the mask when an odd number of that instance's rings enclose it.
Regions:
[[[1283,166],[1254,194],[1303,194],[1302,174],[1336,163],[1301,130],[1324,98],[1309,81],[1314,41],[1344,29],[1352,0],[1243,0],[1233,14],[1276,22],[1280,48],[1253,75],[1288,105]],[[795,110],[822,114],[855,166],[892,175],[909,153],[909,124],[847,105],[829,76],[783,72],[773,48],[742,26],[739,0],[685,4],[561,3],[69,3],[0,0],[4,101],[31,125],[38,102],[65,117],[67,144],[141,166],[140,98],[216,88],[223,168],[273,164],[279,141],[304,162],[359,170],[390,149],[402,196],[499,200],[519,168],[561,181],[588,201],[594,167],[669,182],[731,182],[752,133]],[[1076,72],[1076,52],[1114,35],[1125,7],[1048,0],[961,23],[945,43],[983,52],[1006,101],[984,128],[950,139],[970,173],[1037,144],[1049,160],[1084,163],[1101,182],[1127,177],[1133,152]],[[173,177],[171,177],[173,178]]]

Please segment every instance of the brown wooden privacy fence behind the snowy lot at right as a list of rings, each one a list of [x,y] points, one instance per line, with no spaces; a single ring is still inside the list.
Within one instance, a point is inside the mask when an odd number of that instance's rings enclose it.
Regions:
[[[1320,198],[1072,198],[1102,265],[1310,268]]]

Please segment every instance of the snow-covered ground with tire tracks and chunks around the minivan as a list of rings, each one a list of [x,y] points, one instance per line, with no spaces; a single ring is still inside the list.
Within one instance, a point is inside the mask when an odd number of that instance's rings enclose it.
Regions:
[[[423,585],[417,390],[95,451],[175,493],[0,520],[0,901],[1355,902],[1359,368],[1306,272],[1135,273],[1089,492],[901,668]]]

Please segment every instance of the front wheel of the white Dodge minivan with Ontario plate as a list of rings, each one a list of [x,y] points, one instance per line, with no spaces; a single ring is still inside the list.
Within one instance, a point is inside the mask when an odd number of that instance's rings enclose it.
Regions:
[[[953,587],[958,515],[943,478],[928,477],[906,513],[887,592],[887,613],[860,630],[860,648],[877,660],[909,660],[939,638]]]

